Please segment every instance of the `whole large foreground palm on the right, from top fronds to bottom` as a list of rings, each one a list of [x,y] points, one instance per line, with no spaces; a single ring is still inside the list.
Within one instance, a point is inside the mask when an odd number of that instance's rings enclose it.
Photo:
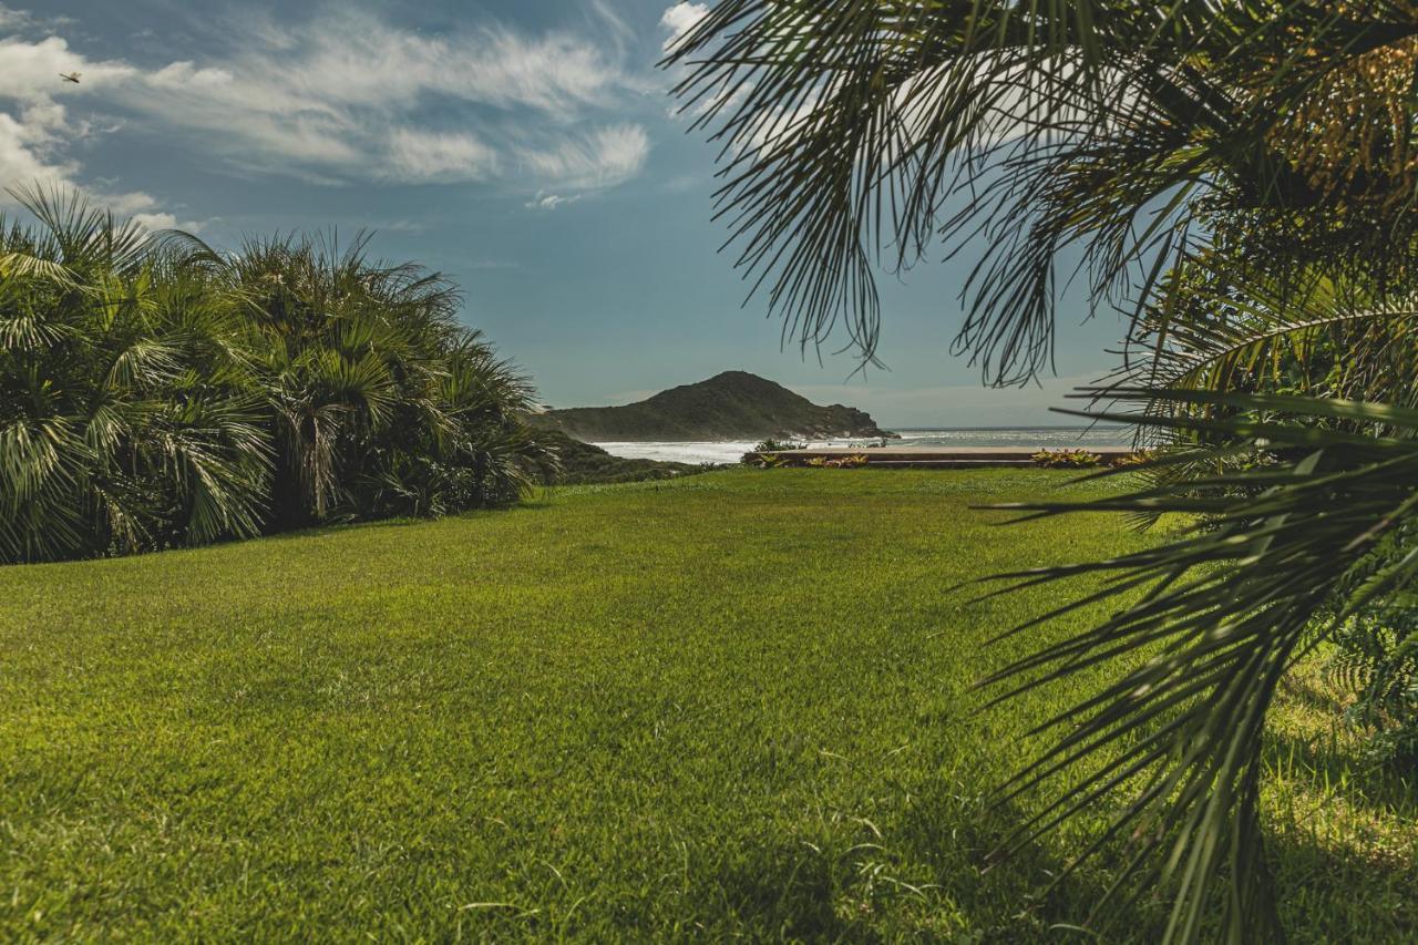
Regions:
[[[1218,897],[1228,939],[1278,935],[1258,819],[1271,700],[1418,566],[1415,62],[1402,0],[720,0],[666,60],[722,149],[737,262],[804,345],[845,326],[873,358],[876,272],[942,245],[986,245],[957,349],[990,383],[1049,366],[1066,247],[1095,302],[1130,316],[1120,373],[1085,393],[1174,450],[1149,488],[1092,508],[1201,522],[1014,576],[1103,570],[1096,599],[1120,610],[991,684],[1159,654],[1042,726],[1055,745],[1005,795],[1086,772],[1027,841],[1122,793],[1098,843],[1136,854],[1117,891],[1176,890],[1171,941],[1195,941]]]

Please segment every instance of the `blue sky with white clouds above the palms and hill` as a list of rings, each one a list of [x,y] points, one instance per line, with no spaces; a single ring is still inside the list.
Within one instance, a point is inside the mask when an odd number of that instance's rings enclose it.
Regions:
[[[464,289],[464,321],[557,407],[750,370],[885,426],[1034,426],[1106,373],[1122,324],[1059,306],[1056,375],[991,390],[950,353],[971,260],[882,277],[885,369],[803,352],[712,220],[715,149],[657,70],[666,0],[0,4],[0,182],[82,192],[220,247],[374,231]],[[81,72],[78,84],[61,72]],[[0,197],[0,201],[7,199]],[[10,201],[13,204],[13,201]],[[7,207],[13,213],[13,206]],[[942,251],[942,257],[944,253]]]

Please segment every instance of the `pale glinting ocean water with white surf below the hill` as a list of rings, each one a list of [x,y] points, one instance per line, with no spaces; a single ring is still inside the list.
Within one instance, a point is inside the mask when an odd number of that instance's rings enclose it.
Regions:
[[[1079,448],[1089,446],[1127,446],[1132,443],[1133,427],[1117,424],[1096,424],[1093,427],[995,427],[995,429],[949,429],[949,427],[898,427],[900,440],[889,440],[889,446],[927,447],[1048,447]],[[813,447],[865,447],[875,440],[817,440]],[[672,463],[737,463],[739,458],[757,446],[754,441],[706,441],[706,443],[597,443],[611,455],[627,460],[661,460]]]

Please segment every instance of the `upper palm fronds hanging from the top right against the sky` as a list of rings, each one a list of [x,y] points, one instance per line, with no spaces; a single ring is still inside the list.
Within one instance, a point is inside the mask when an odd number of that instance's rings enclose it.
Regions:
[[[1095,299],[1122,302],[1194,251],[1219,210],[1278,224],[1323,199],[1299,172],[1313,142],[1278,133],[1280,116],[1415,31],[1397,1],[1346,16],[1200,0],[726,0],[666,65],[688,70],[675,92],[722,149],[719,219],[786,338],[817,345],[845,325],[871,359],[883,254],[900,270],[937,241],[984,238],[959,345],[988,380],[1020,383],[1051,360],[1062,247],[1083,248]],[[1405,175],[1366,186],[1411,194]],[[1407,265],[1398,204],[1366,206],[1363,223],[1292,227],[1272,254]],[[1339,240],[1366,253],[1330,251]]]

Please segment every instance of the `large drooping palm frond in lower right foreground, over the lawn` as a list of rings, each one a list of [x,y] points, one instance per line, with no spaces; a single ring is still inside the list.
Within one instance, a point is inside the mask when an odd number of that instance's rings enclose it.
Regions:
[[[1161,481],[1100,502],[1010,507],[1029,516],[1083,509],[1205,516],[1180,539],[1143,552],[1001,578],[1025,586],[1110,575],[1098,596],[1116,596],[1123,606],[1088,633],[1042,647],[986,680],[998,690],[997,701],[1073,685],[1090,668],[1151,654],[1141,665],[1119,668],[1035,731],[1054,735],[1054,742],[1004,788],[1003,799],[1066,770],[1082,776],[1071,793],[1022,824],[1014,841],[1032,840],[1099,800],[1122,797],[1113,826],[1090,847],[1120,839],[1130,849],[1132,866],[1115,892],[1124,884],[1134,891],[1151,884],[1174,890],[1168,941],[1197,941],[1219,892],[1228,941],[1273,938],[1279,927],[1258,819],[1266,711],[1299,656],[1418,569],[1418,552],[1368,568],[1381,545],[1418,515],[1418,411],[1194,390],[1113,389],[1110,396],[1144,410],[1159,402],[1242,410],[1217,420],[1181,410],[1167,420],[1103,416],[1225,436],[1289,458],[1210,481]],[[1394,434],[1313,423],[1334,419]],[[1317,508],[1326,514],[1316,516]],[[1367,576],[1356,586],[1358,573]],[[1139,589],[1149,590],[1139,596]],[[1317,623],[1316,614],[1324,613],[1333,616]]]

